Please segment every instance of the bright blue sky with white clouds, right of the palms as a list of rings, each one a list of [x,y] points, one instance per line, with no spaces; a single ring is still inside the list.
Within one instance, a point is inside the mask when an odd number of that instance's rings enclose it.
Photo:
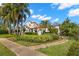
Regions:
[[[78,3],[30,3],[31,16],[29,20],[40,23],[49,20],[51,23],[62,23],[69,17],[72,22],[79,23]]]

